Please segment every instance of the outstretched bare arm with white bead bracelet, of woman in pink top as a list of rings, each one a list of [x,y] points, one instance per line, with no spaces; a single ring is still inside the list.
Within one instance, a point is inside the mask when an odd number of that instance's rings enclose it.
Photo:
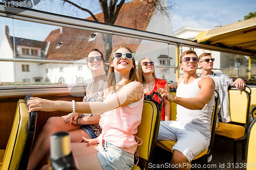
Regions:
[[[75,111],[79,113],[104,113],[117,107],[137,102],[142,98],[143,85],[139,82],[126,84],[124,88],[105,99],[103,102],[76,102]],[[32,111],[72,111],[72,102],[50,101],[31,98],[28,102],[29,112]]]

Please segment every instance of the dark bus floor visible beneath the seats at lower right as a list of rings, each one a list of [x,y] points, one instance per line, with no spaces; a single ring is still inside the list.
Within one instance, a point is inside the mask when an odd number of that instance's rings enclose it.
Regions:
[[[156,148],[154,155],[155,162],[151,164],[154,169],[170,169],[169,164],[172,153]],[[191,164],[191,169],[204,169],[202,159],[195,160]],[[212,151],[212,159],[208,163],[208,170],[232,170],[246,169],[246,161],[242,160],[242,141],[237,141],[237,163],[233,163],[233,140],[216,135],[214,141],[214,150]]]

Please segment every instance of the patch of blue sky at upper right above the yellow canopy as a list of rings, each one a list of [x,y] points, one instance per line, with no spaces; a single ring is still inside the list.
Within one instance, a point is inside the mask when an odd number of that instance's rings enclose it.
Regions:
[[[173,30],[182,27],[215,28],[244,20],[256,11],[255,0],[175,0],[177,6],[170,11]]]

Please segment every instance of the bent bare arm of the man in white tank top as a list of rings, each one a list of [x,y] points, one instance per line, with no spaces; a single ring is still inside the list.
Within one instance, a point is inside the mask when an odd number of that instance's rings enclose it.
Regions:
[[[201,110],[214,95],[215,82],[211,78],[202,78],[198,82],[198,85],[200,87],[200,91],[195,98],[180,98],[170,94],[169,91],[161,88],[158,91],[163,96],[163,98],[165,98],[169,102],[174,102],[187,109]]]

